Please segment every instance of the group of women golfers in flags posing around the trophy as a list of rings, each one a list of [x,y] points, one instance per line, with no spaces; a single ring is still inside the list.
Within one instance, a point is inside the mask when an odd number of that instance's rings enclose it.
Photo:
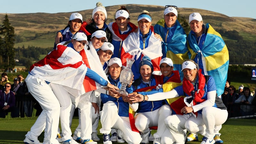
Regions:
[[[138,27],[130,22],[129,14],[121,6],[115,22],[107,25],[106,9],[99,2],[92,19],[83,21],[77,12],[70,15],[68,26],[57,32],[52,52],[31,66],[26,78],[43,112],[24,143],[39,144],[37,137],[43,130],[43,144],[59,143],[60,119],[62,143],[95,144],[100,140],[99,116],[104,144],[149,143],[150,129],[157,130],[154,144],[185,143],[186,130],[204,135],[203,144],[213,139],[223,143],[219,130],[227,110],[215,97],[223,93],[227,79],[228,50],[221,36],[194,12],[189,16],[187,37],[172,5],[165,6],[164,19],[154,27],[148,11],[138,16]],[[127,58],[135,61],[129,96],[117,92]],[[79,125],[71,137],[76,107]],[[117,130],[113,140],[111,128]]]

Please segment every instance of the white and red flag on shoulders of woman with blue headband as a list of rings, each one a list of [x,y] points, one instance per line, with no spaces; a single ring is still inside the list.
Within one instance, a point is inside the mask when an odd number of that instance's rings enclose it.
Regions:
[[[132,58],[135,55],[136,55],[136,59],[132,67],[138,67],[139,62],[136,62],[136,61],[140,61],[138,60],[140,56],[141,58],[143,56],[148,56],[149,59],[151,59],[151,62],[154,67],[153,73],[159,74],[160,72],[159,63],[161,61],[161,57],[163,54],[162,54],[161,42],[158,39],[156,39],[153,32],[150,35],[148,47],[145,49],[140,48],[140,30],[138,30],[137,33],[130,33],[130,35],[124,40],[124,43],[121,49],[121,58],[120,58],[123,66],[126,66],[126,58]],[[132,72],[135,73],[134,71]]]

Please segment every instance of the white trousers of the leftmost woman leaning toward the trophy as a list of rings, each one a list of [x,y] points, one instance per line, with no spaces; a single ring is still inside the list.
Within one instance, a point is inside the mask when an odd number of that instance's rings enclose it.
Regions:
[[[52,92],[49,84],[40,78],[28,75],[26,78],[28,91],[38,101],[43,111],[38,116],[35,124],[26,134],[28,139],[37,139],[44,131],[43,144],[57,144],[56,140],[59,119],[60,119],[60,103]]]

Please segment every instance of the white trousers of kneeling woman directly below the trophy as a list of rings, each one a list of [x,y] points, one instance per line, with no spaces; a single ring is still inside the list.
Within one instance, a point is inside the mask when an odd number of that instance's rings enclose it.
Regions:
[[[129,117],[118,115],[117,106],[113,101],[104,103],[100,116],[102,125],[100,133],[109,134],[111,128],[114,128],[122,131],[122,134],[118,133],[118,136],[129,144],[139,144],[142,140],[140,133],[132,131]]]

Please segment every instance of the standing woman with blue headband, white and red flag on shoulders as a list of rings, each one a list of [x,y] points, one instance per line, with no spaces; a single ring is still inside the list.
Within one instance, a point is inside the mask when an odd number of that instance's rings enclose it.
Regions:
[[[159,75],[159,62],[162,57],[161,42],[154,36],[154,28],[151,26],[152,18],[148,11],[143,11],[138,16],[139,30],[137,33],[131,33],[125,40],[121,49],[121,60],[123,66],[126,66],[126,58],[132,58],[135,62],[132,64],[134,79],[140,77],[139,63],[143,56],[148,56],[154,66],[154,73]]]

